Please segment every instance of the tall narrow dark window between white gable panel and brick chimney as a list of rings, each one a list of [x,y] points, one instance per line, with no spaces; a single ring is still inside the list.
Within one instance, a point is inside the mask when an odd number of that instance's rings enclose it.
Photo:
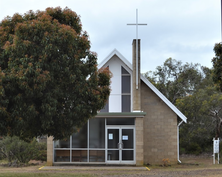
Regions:
[[[131,111],[131,78],[130,73],[121,67],[122,75],[122,112]]]

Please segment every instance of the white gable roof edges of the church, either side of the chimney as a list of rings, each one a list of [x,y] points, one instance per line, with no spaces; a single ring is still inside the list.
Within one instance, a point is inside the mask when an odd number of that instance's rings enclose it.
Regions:
[[[104,66],[114,55],[118,56],[123,63],[125,63],[131,70],[132,64],[116,49],[114,49],[99,65],[98,68]],[[167,105],[169,108],[177,114],[185,123],[187,122],[186,116],[177,109],[147,78],[140,74],[140,79]]]

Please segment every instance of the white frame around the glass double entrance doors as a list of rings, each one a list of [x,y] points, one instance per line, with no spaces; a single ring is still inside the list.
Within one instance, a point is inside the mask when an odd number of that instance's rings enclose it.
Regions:
[[[135,131],[135,125],[106,125],[105,127],[105,162],[107,164],[136,164],[136,131]],[[108,129],[119,129],[119,139],[122,136],[122,129],[132,129],[133,130],[133,160],[132,161],[126,161],[122,160],[122,149],[119,149],[119,160],[118,161],[110,161],[108,160]]]

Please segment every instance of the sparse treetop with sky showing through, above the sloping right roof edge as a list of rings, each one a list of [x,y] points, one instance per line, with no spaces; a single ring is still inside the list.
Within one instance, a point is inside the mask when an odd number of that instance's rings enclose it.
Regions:
[[[182,64],[168,58],[155,72],[145,73],[145,77],[174,104],[178,98],[195,91],[204,74],[200,68],[199,64]]]

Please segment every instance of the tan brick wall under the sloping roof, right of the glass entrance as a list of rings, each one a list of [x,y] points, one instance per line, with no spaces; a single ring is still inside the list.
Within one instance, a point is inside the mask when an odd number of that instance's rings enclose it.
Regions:
[[[143,122],[144,163],[162,164],[164,158],[177,162],[177,115],[143,82],[141,107]]]

